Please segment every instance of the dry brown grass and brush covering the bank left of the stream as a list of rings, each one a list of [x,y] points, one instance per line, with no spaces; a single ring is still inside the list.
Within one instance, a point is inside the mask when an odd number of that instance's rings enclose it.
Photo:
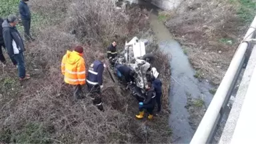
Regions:
[[[43,12],[49,19],[38,29],[37,40],[27,44],[25,61],[32,78],[19,83],[17,70],[0,68],[0,142],[168,143],[168,113],[153,121],[135,119],[137,101],[107,73],[103,79],[104,113],[88,97],[74,103],[71,87],[63,82],[61,58],[73,45],[83,45],[88,67],[96,57],[95,51],[105,53],[112,39],[123,47],[124,40],[149,29],[145,11],[120,11],[113,9],[114,4],[109,0],[33,1],[33,11]],[[71,29],[75,35],[69,33]],[[157,61],[166,63],[157,69],[165,79],[163,103],[167,109],[169,59],[160,51],[155,53]]]

